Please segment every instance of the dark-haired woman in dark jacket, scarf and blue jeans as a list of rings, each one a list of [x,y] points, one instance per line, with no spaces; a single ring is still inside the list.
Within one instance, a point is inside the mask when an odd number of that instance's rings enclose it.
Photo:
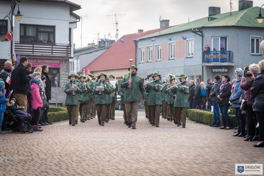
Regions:
[[[219,105],[223,126],[219,129],[229,130],[231,129],[230,117],[227,114],[229,108],[229,97],[231,96],[232,86],[230,84],[230,77],[228,75],[222,75],[222,84],[218,86],[215,94],[217,97],[217,104]],[[226,127],[227,125],[227,127]]]

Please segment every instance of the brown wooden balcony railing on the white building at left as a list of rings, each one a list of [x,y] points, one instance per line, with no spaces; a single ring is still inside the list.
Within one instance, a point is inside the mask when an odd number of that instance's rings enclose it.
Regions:
[[[15,42],[17,54],[71,56],[71,45],[58,43]]]

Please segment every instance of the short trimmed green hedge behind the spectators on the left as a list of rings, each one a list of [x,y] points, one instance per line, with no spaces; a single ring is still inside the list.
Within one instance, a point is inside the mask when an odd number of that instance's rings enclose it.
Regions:
[[[49,107],[48,109],[48,118],[51,122],[59,122],[62,120],[67,120],[68,111],[64,107]]]

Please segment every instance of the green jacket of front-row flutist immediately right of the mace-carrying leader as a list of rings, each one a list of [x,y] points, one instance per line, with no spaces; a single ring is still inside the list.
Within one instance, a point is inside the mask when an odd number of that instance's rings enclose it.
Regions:
[[[147,88],[148,89],[148,97],[147,97],[147,105],[162,105],[162,98],[161,98],[161,89],[157,88],[156,84],[162,84],[160,80],[156,80],[154,82],[148,83]]]

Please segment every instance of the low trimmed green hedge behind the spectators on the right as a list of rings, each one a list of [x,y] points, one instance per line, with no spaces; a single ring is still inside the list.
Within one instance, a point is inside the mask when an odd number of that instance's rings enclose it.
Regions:
[[[213,112],[199,109],[187,109],[188,117],[190,120],[205,123],[207,125],[213,122]],[[237,127],[237,121],[235,115],[229,115],[231,127]],[[222,125],[222,117],[220,112],[220,124]]]

